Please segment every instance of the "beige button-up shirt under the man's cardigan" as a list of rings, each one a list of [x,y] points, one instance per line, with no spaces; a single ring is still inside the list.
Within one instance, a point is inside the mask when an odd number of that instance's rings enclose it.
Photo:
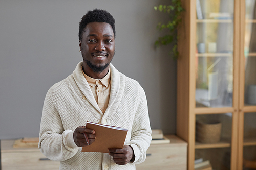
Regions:
[[[82,69],[82,68],[81,68]],[[83,72],[83,70],[82,70]],[[94,79],[83,72],[100,110],[105,113],[110,100],[110,70],[102,79]]]

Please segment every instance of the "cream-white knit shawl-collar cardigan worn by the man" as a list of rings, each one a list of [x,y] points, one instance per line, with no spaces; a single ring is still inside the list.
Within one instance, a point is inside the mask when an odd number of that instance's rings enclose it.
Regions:
[[[103,114],[81,66],[82,61],[72,75],[54,84],[46,94],[40,125],[40,151],[49,159],[60,161],[60,169],[135,169],[135,164],[145,160],[151,142],[144,90],[137,81],[110,64],[110,101]],[[117,165],[108,153],[82,153],[81,147],[74,142],[73,132],[87,120],[129,129],[124,144],[133,148],[135,161]]]

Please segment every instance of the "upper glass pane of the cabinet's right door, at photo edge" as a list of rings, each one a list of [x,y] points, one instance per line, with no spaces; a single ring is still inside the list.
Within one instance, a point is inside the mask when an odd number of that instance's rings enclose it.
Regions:
[[[256,105],[256,3],[245,1],[245,84],[244,103]]]

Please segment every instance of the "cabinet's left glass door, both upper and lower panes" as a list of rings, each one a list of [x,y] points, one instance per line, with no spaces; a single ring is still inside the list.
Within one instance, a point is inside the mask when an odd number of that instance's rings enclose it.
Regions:
[[[231,169],[237,114],[215,110],[233,107],[234,0],[196,0],[196,12],[195,107],[207,114],[196,113],[194,168]]]

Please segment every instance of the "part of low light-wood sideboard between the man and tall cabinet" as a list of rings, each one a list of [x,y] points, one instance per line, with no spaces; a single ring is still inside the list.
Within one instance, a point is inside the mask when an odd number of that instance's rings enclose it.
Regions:
[[[166,135],[169,144],[151,144],[147,150],[146,160],[136,165],[136,169],[155,170],[187,168],[187,143],[175,135]]]

